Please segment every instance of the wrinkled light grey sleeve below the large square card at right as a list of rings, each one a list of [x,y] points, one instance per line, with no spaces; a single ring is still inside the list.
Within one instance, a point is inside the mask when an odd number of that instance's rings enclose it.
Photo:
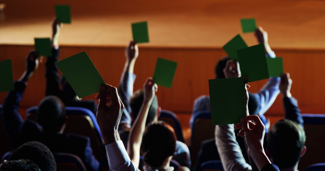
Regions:
[[[215,127],[215,143],[221,158],[224,170],[251,171],[252,167],[245,158],[236,141],[234,124],[217,125]]]

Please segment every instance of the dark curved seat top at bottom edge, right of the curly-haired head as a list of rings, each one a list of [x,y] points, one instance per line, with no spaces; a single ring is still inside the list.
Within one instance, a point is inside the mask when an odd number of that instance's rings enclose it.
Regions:
[[[86,171],[82,160],[74,154],[53,153],[53,156],[57,163],[57,171]]]

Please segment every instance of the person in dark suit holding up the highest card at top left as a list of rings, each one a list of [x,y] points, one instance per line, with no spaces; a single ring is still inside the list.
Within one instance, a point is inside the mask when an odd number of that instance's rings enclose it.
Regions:
[[[59,97],[65,106],[72,107],[83,107],[91,110],[96,114],[97,102],[94,100],[81,100],[78,98],[77,94],[72,89],[71,85],[62,75],[59,78],[58,67],[55,62],[59,59],[59,35],[60,29],[62,28],[62,23],[59,23],[57,19],[52,22],[52,56],[48,56],[45,63],[46,69],[46,96],[57,96]],[[60,90],[59,85],[61,84],[62,90]]]

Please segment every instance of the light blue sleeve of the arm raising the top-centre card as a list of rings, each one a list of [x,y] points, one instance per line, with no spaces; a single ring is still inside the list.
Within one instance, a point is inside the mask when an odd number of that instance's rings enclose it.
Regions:
[[[124,110],[121,116],[120,123],[131,125],[131,106],[130,98],[133,95],[133,85],[136,80],[136,75],[130,72],[124,72],[121,77],[118,94],[124,104]]]

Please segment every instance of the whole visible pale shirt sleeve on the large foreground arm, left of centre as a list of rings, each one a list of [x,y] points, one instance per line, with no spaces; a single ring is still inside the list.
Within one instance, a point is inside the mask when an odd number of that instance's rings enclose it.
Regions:
[[[110,171],[138,171],[138,168],[131,162],[121,140],[110,143],[105,148]]]

